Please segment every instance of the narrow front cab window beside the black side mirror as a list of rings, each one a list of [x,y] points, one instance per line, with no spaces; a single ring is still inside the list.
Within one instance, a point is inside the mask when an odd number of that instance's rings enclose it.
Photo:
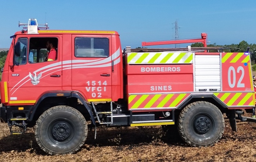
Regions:
[[[27,63],[27,45],[28,38],[19,38],[19,52],[15,52],[15,65],[24,65]],[[17,50],[17,49],[16,49]],[[17,55],[19,53],[19,56]]]

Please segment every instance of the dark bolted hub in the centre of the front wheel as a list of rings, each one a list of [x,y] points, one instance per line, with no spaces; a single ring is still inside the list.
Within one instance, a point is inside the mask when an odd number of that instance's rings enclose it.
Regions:
[[[55,123],[52,127],[52,135],[57,141],[64,141],[69,138],[71,134],[69,125],[64,122]]]

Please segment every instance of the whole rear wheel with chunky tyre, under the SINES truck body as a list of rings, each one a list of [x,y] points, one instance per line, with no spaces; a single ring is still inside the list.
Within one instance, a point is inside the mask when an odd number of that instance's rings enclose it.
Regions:
[[[205,101],[187,105],[178,119],[178,132],[183,141],[195,147],[208,147],[217,143],[224,128],[221,111]]]

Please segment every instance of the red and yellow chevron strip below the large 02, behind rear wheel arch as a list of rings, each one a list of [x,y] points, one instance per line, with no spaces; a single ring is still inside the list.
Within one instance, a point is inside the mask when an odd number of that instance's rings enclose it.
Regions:
[[[213,93],[227,106],[254,106],[254,93]]]

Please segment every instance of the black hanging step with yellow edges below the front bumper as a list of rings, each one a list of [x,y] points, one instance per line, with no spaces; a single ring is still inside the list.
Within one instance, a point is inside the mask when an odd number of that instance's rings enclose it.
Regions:
[[[28,118],[10,118],[10,121],[8,120],[7,123],[8,123],[8,126],[9,126],[9,129],[10,129],[10,133],[12,135],[21,135],[21,134],[24,134],[26,132],[26,120],[28,120]],[[17,121],[17,122],[16,122]],[[12,126],[17,126],[19,128],[22,128],[22,131],[21,132],[14,132],[12,130]]]

